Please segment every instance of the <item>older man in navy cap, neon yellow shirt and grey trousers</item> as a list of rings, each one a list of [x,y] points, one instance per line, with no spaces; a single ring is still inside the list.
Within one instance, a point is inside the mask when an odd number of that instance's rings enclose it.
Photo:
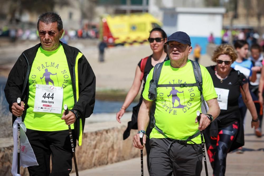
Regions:
[[[190,37],[185,32],[175,32],[168,37],[169,60],[161,64],[155,98],[149,96],[149,87],[158,77],[153,68],[147,78],[143,102],[138,114],[138,130],[145,132],[149,123],[149,111],[156,106],[154,128],[150,134],[150,175],[200,175],[202,148],[200,131],[205,129],[220,113],[217,95],[210,74],[200,66],[202,92],[209,110],[201,114],[198,125],[196,112],[201,111],[201,92],[196,84],[194,69],[188,55],[192,51]],[[190,86],[193,85],[193,86]],[[154,100],[154,103],[153,103]],[[133,145],[143,149],[139,133]],[[145,135],[143,136],[145,143]]]

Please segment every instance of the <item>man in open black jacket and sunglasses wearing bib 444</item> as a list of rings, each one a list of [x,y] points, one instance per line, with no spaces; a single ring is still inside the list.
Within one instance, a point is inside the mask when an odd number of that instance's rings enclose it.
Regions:
[[[21,116],[25,123],[39,164],[28,167],[29,174],[68,176],[73,157],[68,125],[74,147],[76,139],[82,145],[85,118],[93,113],[95,104],[95,74],[81,51],[59,41],[63,24],[58,14],[41,14],[37,28],[40,44],[20,55],[4,92],[13,122]],[[64,104],[70,110],[68,115]]]

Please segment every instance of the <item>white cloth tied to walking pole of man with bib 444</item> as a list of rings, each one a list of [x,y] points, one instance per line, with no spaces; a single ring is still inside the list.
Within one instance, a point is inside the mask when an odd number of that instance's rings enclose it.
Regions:
[[[25,123],[22,122],[21,118],[17,118],[13,124],[14,150],[11,169],[11,173],[13,176],[20,176],[20,174],[17,174],[17,124],[20,125],[20,166],[23,166],[25,168],[29,166],[39,165],[37,163],[36,156],[29,143],[29,140],[27,139],[25,133],[27,131]]]

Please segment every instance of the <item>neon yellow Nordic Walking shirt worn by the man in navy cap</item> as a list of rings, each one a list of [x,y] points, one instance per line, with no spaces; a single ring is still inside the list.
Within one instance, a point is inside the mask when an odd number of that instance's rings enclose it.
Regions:
[[[200,65],[201,66],[201,65]],[[202,88],[205,101],[216,98],[213,81],[210,74],[204,66],[201,66]],[[143,98],[148,99],[149,82],[153,76],[153,69],[150,71]],[[158,84],[182,84],[196,83],[192,63],[188,60],[182,68],[173,68],[170,61],[163,64]],[[195,87],[158,87],[155,125],[161,129],[164,134],[171,139],[186,140],[188,137],[196,134],[198,123],[195,123],[196,112],[201,112],[200,91]],[[155,127],[150,133],[150,138],[164,138]],[[201,137],[198,135],[192,141],[201,144]],[[192,144],[192,142],[188,142]]]

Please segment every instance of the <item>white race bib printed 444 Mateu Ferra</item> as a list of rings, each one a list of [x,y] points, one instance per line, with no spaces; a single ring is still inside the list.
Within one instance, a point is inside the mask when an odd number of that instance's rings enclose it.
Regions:
[[[34,112],[62,113],[63,88],[36,84]]]

